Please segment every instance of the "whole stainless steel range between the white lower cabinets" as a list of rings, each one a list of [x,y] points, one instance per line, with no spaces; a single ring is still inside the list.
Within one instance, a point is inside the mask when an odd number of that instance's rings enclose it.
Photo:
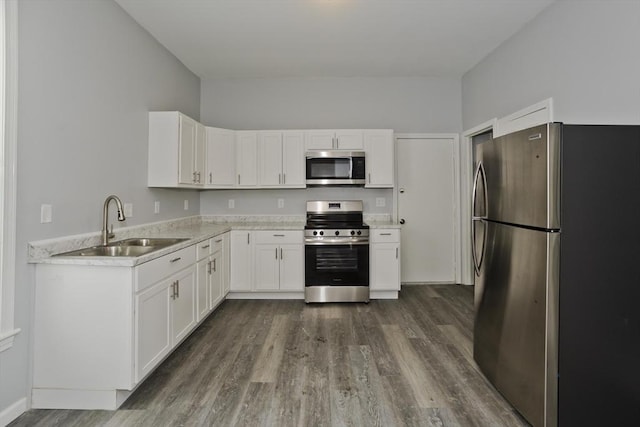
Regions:
[[[305,302],[369,302],[369,226],[361,200],[309,201]]]

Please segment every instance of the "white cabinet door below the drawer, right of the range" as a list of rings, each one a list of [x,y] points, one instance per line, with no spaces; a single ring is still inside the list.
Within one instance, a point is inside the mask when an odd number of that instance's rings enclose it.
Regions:
[[[372,291],[400,290],[400,244],[371,244]]]

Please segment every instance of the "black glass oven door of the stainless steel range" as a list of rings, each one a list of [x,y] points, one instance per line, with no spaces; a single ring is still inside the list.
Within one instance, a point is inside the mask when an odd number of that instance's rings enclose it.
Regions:
[[[305,245],[305,286],[369,286],[369,244]]]

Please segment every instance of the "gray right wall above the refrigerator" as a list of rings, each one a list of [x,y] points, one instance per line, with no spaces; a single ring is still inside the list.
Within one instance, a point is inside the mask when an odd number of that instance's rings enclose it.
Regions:
[[[554,120],[640,123],[640,2],[558,1],[462,79],[470,129],[553,97]]]

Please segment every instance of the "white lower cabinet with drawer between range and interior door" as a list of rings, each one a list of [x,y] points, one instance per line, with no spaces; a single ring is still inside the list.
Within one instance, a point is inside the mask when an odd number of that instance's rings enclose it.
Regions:
[[[370,230],[369,287],[372,298],[397,298],[400,290],[400,230]]]

